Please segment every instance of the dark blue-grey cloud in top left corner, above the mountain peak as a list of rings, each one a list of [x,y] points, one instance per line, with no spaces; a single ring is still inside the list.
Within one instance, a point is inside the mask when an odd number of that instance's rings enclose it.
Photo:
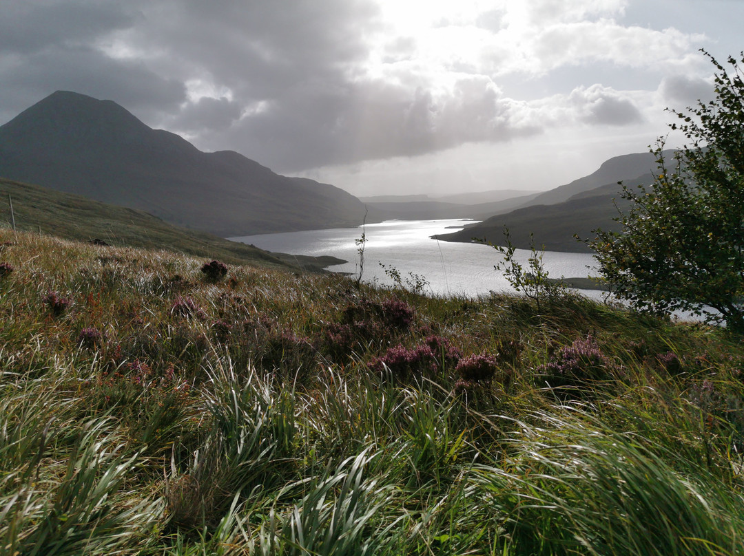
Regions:
[[[111,99],[140,117],[159,117],[185,100],[180,80],[144,60],[101,50],[112,33],[142,21],[132,5],[97,1],[11,1],[0,19],[0,122],[57,90]]]

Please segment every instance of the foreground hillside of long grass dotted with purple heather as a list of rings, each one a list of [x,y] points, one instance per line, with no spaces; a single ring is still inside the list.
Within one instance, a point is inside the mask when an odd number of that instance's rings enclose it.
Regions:
[[[0,553],[744,553],[725,329],[7,229],[0,268]]]

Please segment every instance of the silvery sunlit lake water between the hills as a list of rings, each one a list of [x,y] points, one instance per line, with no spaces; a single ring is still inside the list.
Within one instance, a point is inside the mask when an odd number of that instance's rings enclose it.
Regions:
[[[405,281],[408,272],[418,274],[429,282],[430,294],[464,294],[470,297],[490,291],[512,291],[507,279],[494,270],[501,255],[487,245],[437,242],[431,236],[449,233],[455,227],[472,223],[467,220],[393,220],[365,226],[365,266],[362,279],[377,280],[391,285],[380,262],[400,271]],[[304,232],[269,233],[258,236],[231,238],[233,241],[256,245],[261,249],[295,255],[332,255],[347,261],[344,265],[328,267],[335,272],[356,275],[359,272],[359,253],[355,243],[362,236],[362,227]],[[517,250],[516,258],[526,265],[528,250]],[[543,263],[550,277],[587,277],[594,268],[589,253],[557,253],[548,251]],[[599,292],[585,291],[591,297]]]

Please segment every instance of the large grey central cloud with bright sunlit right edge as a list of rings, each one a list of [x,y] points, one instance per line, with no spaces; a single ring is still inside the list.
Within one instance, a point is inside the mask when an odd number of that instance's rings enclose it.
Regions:
[[[298,1],[291,10],[270,2],[240,10],[231,2],[159,5],[156,18],[145,10],[147,24],[132,31],[137,42],[157,36],[189,77],[230,92],[229,106],[226,98],[210,103],[220,109],[215,120],[193,106],[167,120],[202,148],[237,149],[275,169],[298,170],[515,135],[487,80],[435,96],[405,78],[364,77],[359,64],[379,30],[369,1]],[[413,49],[413,39],[400,37],[387,52],[405,59]],[[196,112],[204,116],[198,123]],[[229,129],[225,117],[233,118]]]

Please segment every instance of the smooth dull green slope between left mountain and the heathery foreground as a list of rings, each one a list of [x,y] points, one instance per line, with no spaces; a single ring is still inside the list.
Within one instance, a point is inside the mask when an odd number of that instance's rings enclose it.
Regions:
[[[230,242],[211,233],[187,230],[155,218],[142,210],[116,207],[31,184],[0,178],[3,205],[0,219],[10,226],[7,196],[13,199],[18,230],[37,231],[66,239],[101,239],[109,245],[167,249],[193,256],[219,259],[232,264],[264,265],[276,268],[322,268],[338,259],[300,257],[267,253],[251,245]]]

